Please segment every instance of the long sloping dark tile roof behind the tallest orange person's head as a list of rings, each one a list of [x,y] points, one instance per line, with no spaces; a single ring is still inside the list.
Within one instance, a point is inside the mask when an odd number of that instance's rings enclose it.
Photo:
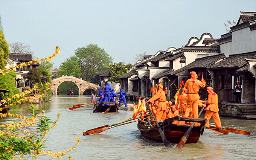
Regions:
[[[213,64],[218,62],[219,60],[225,59],[225,58],[226,58],[226,56],[225,56],[224,53],[219,54],[219,55],[205,56],[205,57],[202,57],[202,58],[197,58],[197,59],[195,59],[194,62],[191,62],[187,66],[184,66],[180,69],[174,70],[173,72],[168,73],[168,75],[175,75],[176,73],[182,72],[182,71],[187,70],[187,69],[208,68],[209,66],[212,66]]]

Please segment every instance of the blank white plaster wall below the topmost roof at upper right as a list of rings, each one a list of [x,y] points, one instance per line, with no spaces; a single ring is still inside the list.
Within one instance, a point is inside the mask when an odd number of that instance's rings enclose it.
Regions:
[[[249,27],[232,32],[232,54],[256,50],[256,30]]]

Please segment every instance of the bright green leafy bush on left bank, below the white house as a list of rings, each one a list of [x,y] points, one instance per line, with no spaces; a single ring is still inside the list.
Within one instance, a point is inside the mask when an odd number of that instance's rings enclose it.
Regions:
[[[14,71],[10,71],[9,73],[5,73],[5,75],[0,75],[0,88],[4,90],[9,90],[11,91],[10,97],[20,93],[20,91],[16,88],[16,73]],[[8,98],[8,94],[5,95],[6,98]],[[14,100],[15,101],[15,100]]]

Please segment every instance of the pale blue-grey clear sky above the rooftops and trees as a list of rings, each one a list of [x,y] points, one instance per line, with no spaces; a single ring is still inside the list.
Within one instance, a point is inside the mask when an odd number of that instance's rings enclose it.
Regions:
[[[0,0],[5,40],[29,45],[40,59],[59,46],[53,69],[88,44],[104,48],[113,62],[134,64],[137,54],[178,49],[205,32],[220,38],[240,11],[255,12],[256,1]]]

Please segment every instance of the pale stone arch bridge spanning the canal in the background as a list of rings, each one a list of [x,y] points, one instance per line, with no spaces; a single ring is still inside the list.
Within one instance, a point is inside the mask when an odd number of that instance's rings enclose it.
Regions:
[[[73,76],[62,76],[56,79],[52,79],[50,90],[53,91],[53,95],[57,95],[57,90],[59,85],[65,81],[70,81],[75,83],[78,87],[79,95],[82,95],[84,91],[87,89],[93,89],[95,90],[96,93],[98,92],[99,85],[92,84],[91,82],[87,82],[82,79],[75,78]]]

